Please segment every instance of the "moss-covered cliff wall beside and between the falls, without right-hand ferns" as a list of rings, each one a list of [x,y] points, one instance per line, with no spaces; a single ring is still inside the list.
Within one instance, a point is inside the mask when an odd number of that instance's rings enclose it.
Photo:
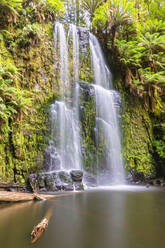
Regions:
[[[3,22],[0,23],[0,32],[3,33],[4,28],[7,30],[0,40],[0,82],[3,84],[0,86],[3,99],[0,104],[3,112],[0,119],[0,181],[18,183],[24,183],[30,173],[43,169],[44,154],[51,136],[50,105],[60,96],[59,75],[55,73],[59,60],[53,43],[53,22],[47,12],[43,13],[42,20],[42,16],[34,14],[31,6],[24,9],[26,13],[21,10],[16,23],[9,22],[5,27]],[[84,61],[80,80],[91,81],[89,54],[80,59]],[[122,97],[125,167],[143,172],[145,176],[164,176],[164,157],[161,156],[164,115],[153,116],[138,97],[129,93],[122,73],[115,76],[119,68],[112,68],[112,72],[114,87]],[[84,130],[82,139],[86,144],[83,163],[90,170],[96,163],[92,131],[95,108],[90,86],[84,86],[84,83],[80,86],[82,105],[85,105],[80,115]]]

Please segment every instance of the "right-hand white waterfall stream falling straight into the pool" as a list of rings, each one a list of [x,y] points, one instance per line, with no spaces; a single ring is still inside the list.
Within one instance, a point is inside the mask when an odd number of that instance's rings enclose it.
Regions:
[[[111,73],[97,38],[90,34],[89,39],[95,82],[97,147],[101,141],[105,144],[103,157],[97,158],[97,180],[99,185],[121,184],[124,182],[124,169],[116,108],[116,97],[119,98],[119,95],[110,89]]]

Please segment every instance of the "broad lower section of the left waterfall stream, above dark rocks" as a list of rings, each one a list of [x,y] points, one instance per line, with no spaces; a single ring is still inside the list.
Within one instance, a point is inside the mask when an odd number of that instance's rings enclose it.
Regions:
[[[52,140],[60,156],[60,170],[81,169],[79,126],[75,112],[65,102],[51,106]]]

